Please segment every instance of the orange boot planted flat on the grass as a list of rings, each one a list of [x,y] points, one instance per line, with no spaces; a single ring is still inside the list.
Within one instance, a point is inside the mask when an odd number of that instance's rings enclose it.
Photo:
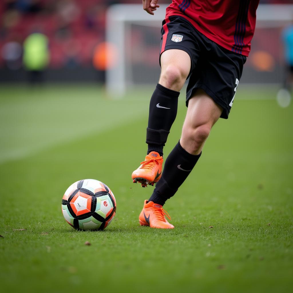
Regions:
[[[174,226],[166,220],[165,215],[171,220],[169,214],[161,205],[145,200],[144,208],[139,215],[139,224],[141,226],[150,226],[151,228],[173,229]]]

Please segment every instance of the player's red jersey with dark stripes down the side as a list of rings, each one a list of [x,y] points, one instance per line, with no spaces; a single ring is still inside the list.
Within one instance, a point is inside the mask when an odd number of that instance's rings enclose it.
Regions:
[[[166,18],[186,18],[218,45],[248,56],[259,0],[172,0]]]

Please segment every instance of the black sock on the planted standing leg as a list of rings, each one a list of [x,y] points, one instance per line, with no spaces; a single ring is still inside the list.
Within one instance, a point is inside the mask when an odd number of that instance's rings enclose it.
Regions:
[[[149,201],[164,205],[185,181],[200,155],[201,153],[199,155],[189,154],[178,142],[166,159],[162,177],[156,183],[156,188]]]

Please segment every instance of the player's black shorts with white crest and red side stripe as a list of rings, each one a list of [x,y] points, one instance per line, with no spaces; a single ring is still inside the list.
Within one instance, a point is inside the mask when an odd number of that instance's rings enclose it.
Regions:
[[[209,40],[182,16],[164,20],[161,33],[160,56],[169,49],[183,50],[190,56],[186,106],[196,89],[202,88],[224,109],[221,117],[227,119],[246,57]]]

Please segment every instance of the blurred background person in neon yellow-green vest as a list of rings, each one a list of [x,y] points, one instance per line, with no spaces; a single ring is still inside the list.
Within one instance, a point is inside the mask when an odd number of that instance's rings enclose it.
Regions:
[[[48,38],[42,33],[32,33],[23,42],[23,66],[31,83],[44,80],[43,73],[49,64]]]

